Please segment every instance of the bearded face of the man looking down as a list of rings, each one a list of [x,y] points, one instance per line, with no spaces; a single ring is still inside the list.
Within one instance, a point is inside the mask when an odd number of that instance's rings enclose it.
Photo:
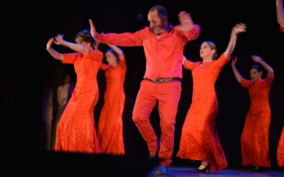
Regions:
[[[160,18],[157,14],[157,11],[148,13],[148,21],[150,21],[150,27],[156,35],[160,35],[166,31],[165,23],[162,18]]]

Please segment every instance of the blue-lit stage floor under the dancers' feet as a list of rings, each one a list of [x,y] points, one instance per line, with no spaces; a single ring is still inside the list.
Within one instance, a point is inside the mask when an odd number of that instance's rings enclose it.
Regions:
[[[147,177],[155,176],[157,167],[153,168],[147,173]],[[277,176],[283,177],[284,172],[280,171],[271,171],[269,169],[264,169],[264,172],[253,172],[252,170],[244,169],[222,169],[220,171],[213,171],[210,173],[195,173],[196,168],[187,168],[187,167],[169,167],[167,177],[187,177],[187,176],[256,176],[256,177],[266,177],[266,176]]]

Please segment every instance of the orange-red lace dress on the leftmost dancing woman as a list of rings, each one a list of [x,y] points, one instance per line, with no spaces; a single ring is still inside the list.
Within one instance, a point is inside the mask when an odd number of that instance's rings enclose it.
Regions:
[[[89,50],[63,54],[63,63],[74,64],[77,83],[57,127],[55,151],[100,153],[97,141],[94,108],[99,99],[97,72],[103,53]]]

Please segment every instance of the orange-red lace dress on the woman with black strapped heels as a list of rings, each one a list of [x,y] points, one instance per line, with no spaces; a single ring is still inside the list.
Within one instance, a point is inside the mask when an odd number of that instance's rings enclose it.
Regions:
[[[222,67],[231,59],[222,54],[212,62],[184,61],[185,69],[192,71],[192,103],[183,123],[177,157],[208,160],[211,171],[227,167],[227,161],[217,136],[215,118],[218,101],[215,82]],[[202,65],[201,65],[202,64]]]

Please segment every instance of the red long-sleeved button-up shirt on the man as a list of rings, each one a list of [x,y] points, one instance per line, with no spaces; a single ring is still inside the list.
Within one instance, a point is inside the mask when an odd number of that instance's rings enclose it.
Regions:
[[[199,25],[189,32],[179,31],[177,26],[169,28],[158,39],[150,27],[145,27],[135,33],[98,34],[95,40],[117,46],[143,46],[146,57],[146,72],[144,78],[182,78],[183,48],[191,40],[197,39]],[[178,25],[180,26],[180,25]]]

